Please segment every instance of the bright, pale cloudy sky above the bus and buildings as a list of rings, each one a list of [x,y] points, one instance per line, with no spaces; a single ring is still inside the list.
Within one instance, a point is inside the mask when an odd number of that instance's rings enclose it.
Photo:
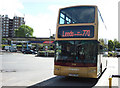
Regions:
[[[109,39],[118,39],[118,1],[120,0],[0,0],[0,14],[25,17],[34,36],[49,37],[56,32],[59,8],[97,5],[107,26]],[[50,29],[50,30],[49,30]]]

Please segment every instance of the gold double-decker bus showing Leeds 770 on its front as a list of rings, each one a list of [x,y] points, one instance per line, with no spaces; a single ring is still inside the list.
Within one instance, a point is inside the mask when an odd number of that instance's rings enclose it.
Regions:
[[[107,67],[106,26],[97,6],[59,10],[55,37],[54,74],[98,78]]]

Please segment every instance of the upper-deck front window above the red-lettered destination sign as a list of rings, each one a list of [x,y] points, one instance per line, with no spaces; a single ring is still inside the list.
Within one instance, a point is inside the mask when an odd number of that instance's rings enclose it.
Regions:
[[[60,10],[59,24],[94,23],[95,7],[79,6]]]

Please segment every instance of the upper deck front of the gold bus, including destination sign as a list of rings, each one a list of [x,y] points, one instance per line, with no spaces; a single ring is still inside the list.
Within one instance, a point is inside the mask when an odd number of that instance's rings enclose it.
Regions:
[[[56,40],[97,40],[97,7],[75,6],[59,11]]]

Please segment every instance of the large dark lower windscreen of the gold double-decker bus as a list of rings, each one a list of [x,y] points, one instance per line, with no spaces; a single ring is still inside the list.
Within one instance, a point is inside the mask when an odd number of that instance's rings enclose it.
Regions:
[[[58,41],[56,43],[56,60],[96,63],[97,45],[96,41]]]

